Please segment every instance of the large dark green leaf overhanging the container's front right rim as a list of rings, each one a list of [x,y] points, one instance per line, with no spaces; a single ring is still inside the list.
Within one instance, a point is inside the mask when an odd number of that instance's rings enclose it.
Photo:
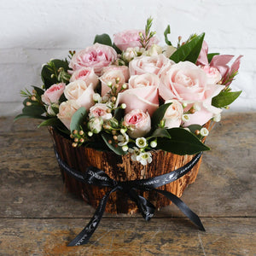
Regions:
[[[204,143],[201,143],[194,134],[183,128],[172,128],[167,131],[171,138],[158,138],[157,148],[180,155],[197,154],[210,149]]]

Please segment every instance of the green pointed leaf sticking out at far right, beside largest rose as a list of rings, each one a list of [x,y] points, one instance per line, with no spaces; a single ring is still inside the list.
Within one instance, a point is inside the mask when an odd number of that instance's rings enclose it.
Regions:
[[[230,105],[236,100],[238,96],[241,95],[241,90],[239,91],[221,91],[218,96],[212,98],[212,106],[216,108],[224,108]]]

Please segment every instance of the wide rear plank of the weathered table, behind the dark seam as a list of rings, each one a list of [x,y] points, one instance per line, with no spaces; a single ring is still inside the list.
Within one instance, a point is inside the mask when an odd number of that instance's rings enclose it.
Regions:
[[[200,216],[255,216],[255,122],[256,113],[229,113],[212,130],[212,151],[203,155],[197,180],[182,198]],[[48,131],[37,124],[0,119],[0,217],[90,217],[91,207],[63,193]],[[157,216],[166,214],[182,216],[174,206]]]

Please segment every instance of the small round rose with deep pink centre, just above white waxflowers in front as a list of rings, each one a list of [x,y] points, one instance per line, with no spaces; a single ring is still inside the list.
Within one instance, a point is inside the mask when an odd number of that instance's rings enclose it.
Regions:
[[[128,135],[133,138],[144,137],[151,129],[151,119],[147,113],[140,109],[133,109],[130,113],[125,114],[125,125],[132,129],[127,131]]]

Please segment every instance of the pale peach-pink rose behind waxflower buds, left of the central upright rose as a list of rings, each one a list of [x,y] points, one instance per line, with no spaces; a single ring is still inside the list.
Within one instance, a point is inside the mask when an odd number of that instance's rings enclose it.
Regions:
[[[119,79],[118,83],[116,79]],[[121,69],[109,68],[102,74],[100,80],[102,82],[102,96],[104,96],[111,90],[107,85],[108,82],[111,82],[113,85],[118,85],[119,88],[117,91],[121,90],[122,85],[125,84],[125,75]]]

